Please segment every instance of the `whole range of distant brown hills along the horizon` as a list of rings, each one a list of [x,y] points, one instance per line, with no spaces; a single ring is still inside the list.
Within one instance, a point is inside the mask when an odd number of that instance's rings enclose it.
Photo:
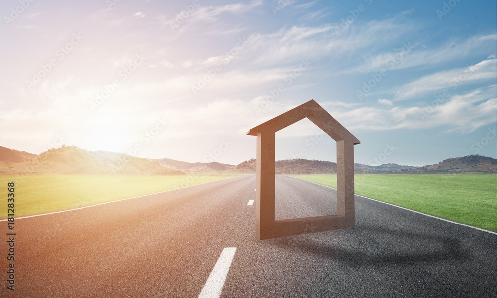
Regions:
[[[421,167],[386,163],[378,166],[356,163],[355,173],[442,174],[497,173],[497,159],[480,155],[450,158]],[[238,165],[219,162],[185,162],[169,158],[145,159],[123,153],[86,151],[75,146],[50,149],[40,155],[0,146],[0,174],[71,173],[71,174],[133,174],[178,175],[255,174],[256,160]],[[292,159],[276,161],[277,174],[332,174],[336,163],[331,161]]]

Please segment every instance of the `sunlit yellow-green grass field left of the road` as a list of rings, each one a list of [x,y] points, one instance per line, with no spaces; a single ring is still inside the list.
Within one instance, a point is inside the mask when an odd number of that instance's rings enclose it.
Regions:
[[[15,217],[162,192],[232,176],[0,175],[0,219],[7,218],[7,183],[15,182]]]

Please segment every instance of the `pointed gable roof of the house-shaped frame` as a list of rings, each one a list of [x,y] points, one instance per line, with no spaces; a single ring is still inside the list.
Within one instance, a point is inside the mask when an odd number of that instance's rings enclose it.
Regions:
[[[257,125],[250,129],[247,132],[247,135],[257,136],[259,133],[274,133],[304,118],[311,120],[335,141],[351,139],[354,145],[361,143],[361,141],[352,135],[313,99],[274,117],[269,121]]]

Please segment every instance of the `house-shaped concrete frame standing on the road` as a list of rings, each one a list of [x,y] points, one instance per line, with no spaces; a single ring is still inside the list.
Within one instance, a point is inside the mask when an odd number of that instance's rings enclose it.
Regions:
[[[337,214],[274,219],[276,132],[308,118],[336,141]],[[361,142],[314,100],[262,123],[247,132],[257,136],[256,234],[259,240],[355,226],[354,145]]]

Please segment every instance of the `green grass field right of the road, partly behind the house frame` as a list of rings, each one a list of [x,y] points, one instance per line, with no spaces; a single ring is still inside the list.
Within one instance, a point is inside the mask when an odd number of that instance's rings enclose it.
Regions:
[[[294,175],[336,187],[336,175]],[[355,175],[355,193],[454,222],[497,230],[496,175]]]

